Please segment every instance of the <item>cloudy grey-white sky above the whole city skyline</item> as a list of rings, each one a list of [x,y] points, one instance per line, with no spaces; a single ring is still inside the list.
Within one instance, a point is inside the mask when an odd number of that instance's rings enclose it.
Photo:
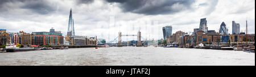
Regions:
[[[232,33],[232,21],[245,32],[255,33],[254,0],[1,0],[0,29],[8,32],[49,32],[52,27],[67,35],[72,8],[75,35],[112,41],[122,35],[142,33],[142,40],[163,38],[162,27],[172,33],[191,33],[207,18],[208,30],[218,32],[225,22]],[[122,37],[123,41],[137,37]]]

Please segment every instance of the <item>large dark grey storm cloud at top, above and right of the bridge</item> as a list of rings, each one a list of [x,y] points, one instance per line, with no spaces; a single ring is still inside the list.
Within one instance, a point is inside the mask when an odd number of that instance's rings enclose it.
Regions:
[[[136,14],[158,15],[172,14],[192,8],[195,0],[106,0],[119,3],[124,12]]]

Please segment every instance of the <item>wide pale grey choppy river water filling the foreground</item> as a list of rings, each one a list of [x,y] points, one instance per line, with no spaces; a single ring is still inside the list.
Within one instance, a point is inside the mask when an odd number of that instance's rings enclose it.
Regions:
[[[0,65],[255,66],[255,53],[162,47],[77,48],[0,53]]]

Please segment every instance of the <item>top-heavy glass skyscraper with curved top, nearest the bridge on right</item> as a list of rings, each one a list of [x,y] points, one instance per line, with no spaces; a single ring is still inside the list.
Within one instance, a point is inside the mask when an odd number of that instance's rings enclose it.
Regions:
[[[167,37],[172,35],[172,26],[167,25],[166,27],[163,27],[163,37],[164,40],[166,40]]]

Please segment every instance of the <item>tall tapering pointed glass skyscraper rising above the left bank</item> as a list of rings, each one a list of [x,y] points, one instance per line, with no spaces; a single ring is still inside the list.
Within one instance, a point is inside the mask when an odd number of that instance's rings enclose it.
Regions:
[[[67,35],[75,36],[74,19],[72,17],[72,8],[70,9],[70,13],[69,13],[68,33],[67,33]]]

